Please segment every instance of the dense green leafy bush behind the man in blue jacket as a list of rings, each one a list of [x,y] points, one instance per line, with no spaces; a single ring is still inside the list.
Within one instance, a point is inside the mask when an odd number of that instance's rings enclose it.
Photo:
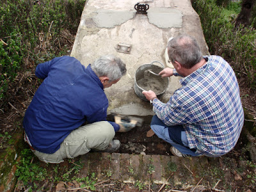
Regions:
[[[29,63],[42,63],[66,51],[61,33],[76,34],[85,1],[6,0],[0,4],[0,107],[18,72],[33,70],[35,65]]]

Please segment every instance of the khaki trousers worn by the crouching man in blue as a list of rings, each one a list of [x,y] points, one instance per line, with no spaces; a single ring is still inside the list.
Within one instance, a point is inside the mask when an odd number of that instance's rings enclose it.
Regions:
[[[115,130],[109,122],[95,122],[72,131],[54,154],[45,154],[37,150],[33,152],[45,163],[61,163],[65,158],[81,156],[91,149],[106,149],[114,136]]]

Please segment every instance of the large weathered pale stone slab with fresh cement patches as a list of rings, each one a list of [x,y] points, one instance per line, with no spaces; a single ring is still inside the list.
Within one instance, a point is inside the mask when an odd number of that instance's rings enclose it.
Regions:
[[[154,113],[149,102],[134,92],[136,69],[152,61],[167,67],[166,44],[171,36],[181,33],[195,36],[204,54],[208,50],[200,19],[190,1],[147,1],[148,14],[136,14],[136,3],[135,0],[86,1],[71,56],[85,66],[105,54],[120,57],[126,63],[127,74],[105,90],[108,113],[147,116]],[[131,45],[129,54],[117,52],[118,44]],[[170,77],[168,88],[159,98],[167,102],[179,87],[179,77]]]

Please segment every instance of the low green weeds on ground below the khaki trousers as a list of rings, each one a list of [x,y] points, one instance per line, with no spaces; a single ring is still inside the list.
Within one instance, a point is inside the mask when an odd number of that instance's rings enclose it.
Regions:
[[[71,166],[60,166],[55,164],[54,168],[49,164],[34,159],[34,154],[29,148],[25,148],[21,152],[20,162],[17,163],[17,170],[15,175],[18,177],[18,184],[22,183],[22,186],[30,191],[42,190],[47,191],[42,187],[42,182],[52,182],[57,188],[58,184],[76,182],[79,188],[90,189],[95,191],[95,184],[97,177],[95,173],[90,173],[86,177],[79,177],[80,171],[83,168],[83,164],[80,160],[73,162],[74,159],[68,159],[68,163]],[[60,185],[59,185],[60,186]],[[49,186],[46,186],[47,188]],[[43,189],[44,188],[44,189]],[[18,190],[19,188],[17,188]],[[18,190],[19,191],[19,190]]]

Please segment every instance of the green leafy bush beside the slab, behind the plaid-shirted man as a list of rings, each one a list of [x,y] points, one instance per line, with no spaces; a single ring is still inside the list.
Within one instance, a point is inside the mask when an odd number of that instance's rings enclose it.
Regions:
[[[198,0],[192,4],[200,16],[211,54],[225,58],[234,68],[237,77],[246,78],[247,86],[256,91],[256,30],[242,26],[235,29],[236,17],[232,14],[227,17],[224,14],[227,9],[217,6],[212,0]]]

